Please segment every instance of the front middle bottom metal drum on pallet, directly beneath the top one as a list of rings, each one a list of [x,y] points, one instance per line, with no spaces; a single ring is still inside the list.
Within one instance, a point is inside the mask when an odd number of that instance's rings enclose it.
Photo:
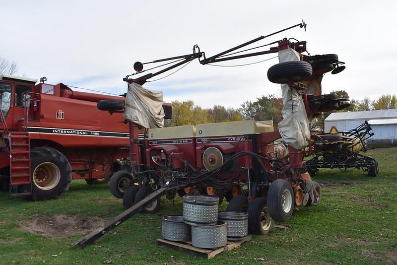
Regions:
[[[227,225],[218,221],[216,225],[192,225],[192,245],[197,248],[218,248],[227,244]]]

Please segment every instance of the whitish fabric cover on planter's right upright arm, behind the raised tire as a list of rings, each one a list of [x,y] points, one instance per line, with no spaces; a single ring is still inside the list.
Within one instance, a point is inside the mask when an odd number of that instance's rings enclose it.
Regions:
[[[282,50],[278,52],[278,60],[280,63],[299,61],[299,54],[292,49]],[[309,140],[310,129],[302,97],[296,89],[292,88],[291,91],[287,84],[281,84],[281,92],[283,120],[278,124],[278,130],[286,143],[296,149],[303,149]]]

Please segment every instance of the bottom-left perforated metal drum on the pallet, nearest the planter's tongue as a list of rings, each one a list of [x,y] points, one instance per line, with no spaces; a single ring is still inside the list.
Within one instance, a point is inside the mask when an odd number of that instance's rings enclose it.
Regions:
[[[191,226],[185,224],[182,215],[163,216],[162,237],[171,241],[190,241]]]

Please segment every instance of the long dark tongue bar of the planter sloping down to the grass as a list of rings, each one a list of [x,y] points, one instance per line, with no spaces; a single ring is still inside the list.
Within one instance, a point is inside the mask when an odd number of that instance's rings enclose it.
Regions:
[[[99,227],[99,228],[93,230],[91,233],[89,233],[85,237],[78,239],[71,245],[72,246],[79,245],[81,248],[84,248],[85,246],[94,243],[100,237],[106,235],[110,230],[112,230],[113,228],[119,226],[123,222],[130,219],[133,215],[135,215],[140,210],[142,210],[147,204],[154,201],[155,199],[160,198],[167,191],[171,191],[176,188],[178,188],[178,186],[170,186],[170,187],[164,187],[164,188],[161,188],[161,189],[155,191],[154,193],[150,194],[145,199],[142,199],[138,203],[132,205],[131,208],[125,210],[124,212],[120,213],[112,220],[109,220],[108,222],[106,222],[102,227]]]

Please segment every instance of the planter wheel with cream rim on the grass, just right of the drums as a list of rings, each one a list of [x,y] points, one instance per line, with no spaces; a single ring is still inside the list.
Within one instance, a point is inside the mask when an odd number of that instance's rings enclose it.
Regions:
[[[257,235],[267,235],[273,228],[274,220],[270,217],[266,198],[254,199],[248,206],[248,230]]]

